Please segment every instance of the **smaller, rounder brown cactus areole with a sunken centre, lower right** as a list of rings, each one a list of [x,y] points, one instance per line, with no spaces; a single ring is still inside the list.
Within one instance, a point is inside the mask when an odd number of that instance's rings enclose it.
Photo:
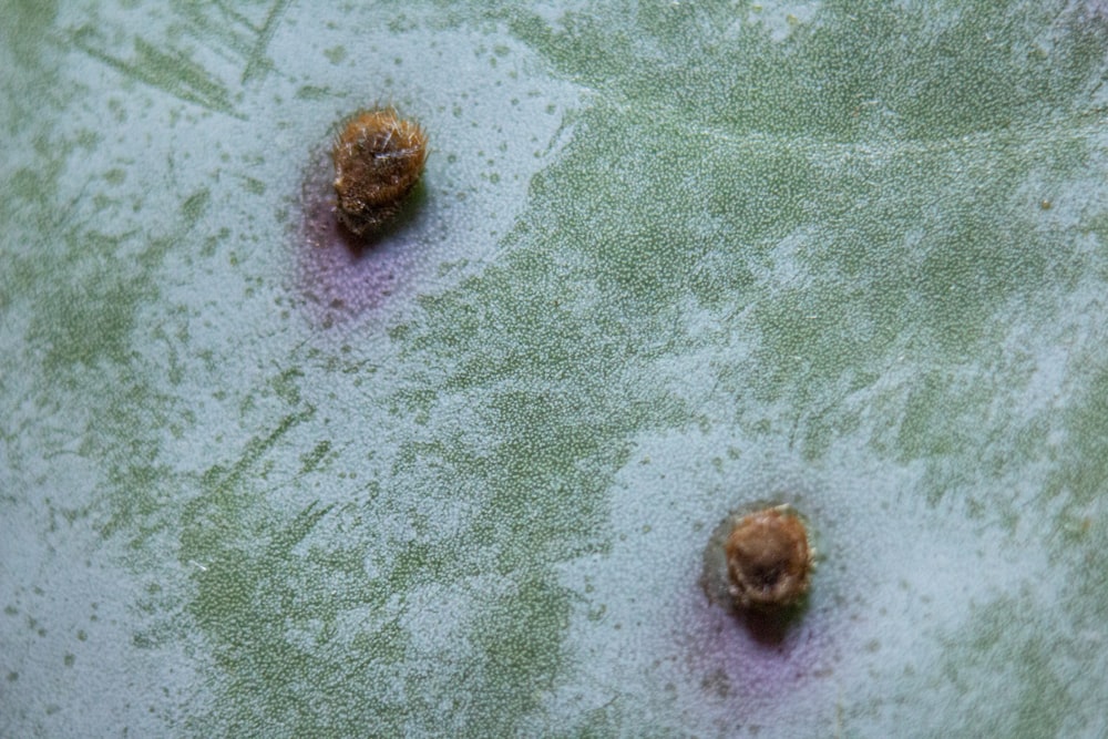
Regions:
[[[724,552],[730,594],[740,608],[778,612],[808,592],[813,553],[803,522],[788,505],[740,519]]]

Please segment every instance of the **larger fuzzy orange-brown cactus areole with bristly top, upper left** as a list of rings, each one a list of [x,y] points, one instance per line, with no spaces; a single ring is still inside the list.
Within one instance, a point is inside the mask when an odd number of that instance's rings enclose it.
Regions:
[[[419,182],[427,154],[427,134],[392,107],[350,116],[331,152],[342,225],[365,236],[393,218]]]

